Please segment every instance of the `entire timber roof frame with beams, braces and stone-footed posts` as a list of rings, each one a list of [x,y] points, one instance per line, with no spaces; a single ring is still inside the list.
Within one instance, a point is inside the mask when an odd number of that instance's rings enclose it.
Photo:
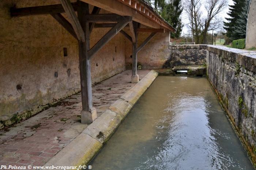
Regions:
[[[93,5],[90,13],[89,4]],[[100,14],[104,9],[111,13]],[[77,12],[77,13],[76,13]],[[154,37],[157,32],[175,32],[154,9],[143,0],[60,0],[60,4],[37,7],[11,8],[12,17],[30,15],[51,15],[75,39],[78,40],[80,82],[82,94],[81,122],[91,123],[97,118],[93,107],[91,90],[90,60],[118,32],[132,42],[132,83],[139,81],[137,75],[137,54]],[[62,13],[67,16],[64,17]],[[150,28],[140,28],[140,25]],[[122,29],[128,26],[130,35]],[[90,48],[90,33],[94,28],[111,28],[93,47]],[[151,34],[138,47],[138,32]]]

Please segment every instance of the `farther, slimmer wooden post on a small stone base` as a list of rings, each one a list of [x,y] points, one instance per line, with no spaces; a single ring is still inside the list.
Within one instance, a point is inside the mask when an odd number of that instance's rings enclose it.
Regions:
[[[132,43],[132,83],[139,82],[139,75],[137,74],[137,45],[138,45],[138,23],[133,22],[133,30],[135,35],[135,42]]]

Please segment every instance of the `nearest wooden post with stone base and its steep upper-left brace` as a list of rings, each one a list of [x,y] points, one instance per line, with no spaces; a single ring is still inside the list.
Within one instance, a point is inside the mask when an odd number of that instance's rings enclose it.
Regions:
[[[78,16],[69,0],[60,0],[66,15],[78,37],[80,84],[82,95],[81,123],[91,123],[97,118],[97,111],[93,107],[91,90],[91,65],[87,51],[90,49],[90,30],[86,16],[89,14],[89,4],[78,1]]]

